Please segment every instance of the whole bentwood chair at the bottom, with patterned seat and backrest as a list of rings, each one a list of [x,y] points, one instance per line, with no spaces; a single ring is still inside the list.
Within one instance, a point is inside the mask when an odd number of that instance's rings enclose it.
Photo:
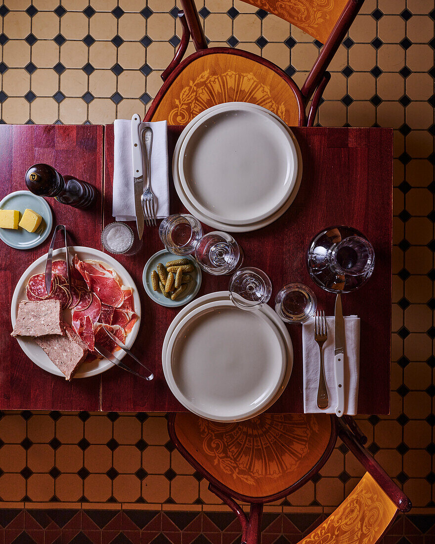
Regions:
[[[345,416],[344,416],[345,417]],[[169,435],[209,490],[239,518],[242,544],[258,544],[264,503],[296,491],[320,471],[337,436],[366,473],[343,503],[299,544],[375,544],[411,502],[367,452],[353,420],[328,415],[265,413],[241,423],[171,414]],[[250,504],[247,516],[235,500]]]

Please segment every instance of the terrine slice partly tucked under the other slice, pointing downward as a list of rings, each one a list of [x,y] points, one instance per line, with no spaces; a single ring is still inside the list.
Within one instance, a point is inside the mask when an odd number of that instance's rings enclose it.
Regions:
[[[35,342],[45,351],[48,358],[71,380],[74,372],[88,355],[88,349],[68,325],[65,336],[47,335],[35,338]]]

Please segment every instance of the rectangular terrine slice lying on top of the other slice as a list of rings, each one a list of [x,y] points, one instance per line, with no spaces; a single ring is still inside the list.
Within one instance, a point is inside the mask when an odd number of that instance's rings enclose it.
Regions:
[[[63,335],[60,300],[22,300],[11,336]]]

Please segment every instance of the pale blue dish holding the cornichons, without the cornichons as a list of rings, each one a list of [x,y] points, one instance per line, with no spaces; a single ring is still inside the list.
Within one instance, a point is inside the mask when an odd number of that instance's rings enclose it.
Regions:
[[[175,259],[182,258],[189,259],[189,261],[191,261],[191,263],[194,265],[194,271],[190,273],[193,281],[188,283],[187,289],[179,296],[178,299],[171,300],[170,298],[166,298],[165,295],[160,292],[160,289],[158,291],[154,291],[151,285],[151,274],[153,270],[157,269],[158,263],[162,263],[165,265],[168,261],[175,261]],[[198,294],[198,291],[200,290],[201,281],[201,269],[191,255],[174,255],[166,249],[162,249],[155,253],[152,257],[150,257],[145,264],[144,272],[142,273],[142,282],[144,283],[145,291],[150,299],[154,300],[154,302],[157,302],[157,304],[160,304],[160,306],[167,306],[171,308],[176,308],[177,306],[184,306],[185,304],[193,300]]]

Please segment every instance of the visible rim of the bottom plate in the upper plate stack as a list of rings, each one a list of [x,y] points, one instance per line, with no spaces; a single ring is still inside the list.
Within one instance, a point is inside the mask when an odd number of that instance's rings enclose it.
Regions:
[[[226,222],[217,221],[215,219],[212,219],[208,217],[206,214],[203,214],[199,209],[195,207],[195,205],[190,201],[189,197],[185,194],[180,177],[179,177],[179,171],[178,171],[178,160],[179,160],[179,154],[181,150],[181,146],[183,144],[184,135],[187,134],[190,129],[195,125],[195,123],[200,122],[201,119],[210,112],[210,110],[216,111],[216,110],[224,110],[226,108],[234,107],[234,104],[237,104],[237,107],[240,109],[240,111],[243,110],[251,110],[251,109],[257,109],[261,110],[262,112],[265,112],[266,114],[272,116],[272,118],[278,120],[282,123],[282,125],[288,130],[290,137],[293,139],[296,153],[297,153],[297,163],[298,163],[298,169],[297,169],[297,177],[295,181],[295,187],[293,191],[291,191],[290,196],[288,199],[284,202],[284,204],[275,212],[272,213],[269,217],[262,219],[260,221],[252,222],[252,223],[246,223],[244,225],[231,225]],[[259,228],[263,228],[267,225],[270,225],[272,222],[276,221],[281,215],[287,211],[287,209],[290,207],[291,203],[294,201],[297,192],[299,191],[300,184],[301,184],[301,178],[302,178],[302,154],[299,147],[299,144],[297,143],[296,138],[294,137],[293,132],[285,125],[284,121],[282,121],[281,118],[279,118],[276,114],[270,112],[268,109],[263,108],[261,106],[257,106],[257,104],[250,104],[245,102],[228,102],[224,104],[217,104],[217,106],[213,106],[212,108],[209,108],[208,110],[205,110],[204,112],[198,114],[190,123],[184,128],[180,138],[178,138],[177,144],[175,146],[175,150],[173,153],[172,158],[172,177],[173,177],[173,183],[176,188],[177,194],[180,198],[180,200],[183,202],[183,205],[189,210],[190,213],[195,215],[196,218],[198,218],[201,222],[203,222],[206,225],[209,225],[214,228],[219,228],[220,230],[227,231],[227,232],[250,232],[254,230],[258,230]]]

